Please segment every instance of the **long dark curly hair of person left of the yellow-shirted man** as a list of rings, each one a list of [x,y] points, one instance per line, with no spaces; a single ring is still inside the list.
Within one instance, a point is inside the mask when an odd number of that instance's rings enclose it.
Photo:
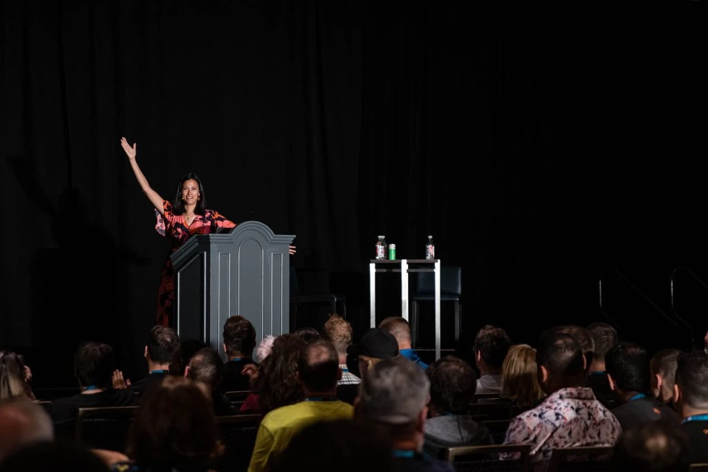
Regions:
[[[297,362],[307,343],[296,334],[283,334],[273,341],[273,349],[261,364],[253,381],[263,415],[270,410],[292,405],[305,398],[297,381]]]

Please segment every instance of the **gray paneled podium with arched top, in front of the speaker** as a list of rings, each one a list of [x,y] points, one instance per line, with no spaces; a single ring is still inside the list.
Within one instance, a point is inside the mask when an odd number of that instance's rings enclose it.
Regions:
[[[180,338],[202,340],[223,356],[222,330],[232,315],[253,323],[256,340],[289,333],[293,239],[259,221],[189,238],[171,256]]]

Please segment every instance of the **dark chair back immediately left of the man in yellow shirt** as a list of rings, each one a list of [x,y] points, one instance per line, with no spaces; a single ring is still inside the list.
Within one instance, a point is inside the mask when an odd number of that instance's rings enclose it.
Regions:
[[[217,464],[218,472],[246,472],[251,463],[256,434],[263,415],[232,415],[217,417],[219,439],[224,454]]]

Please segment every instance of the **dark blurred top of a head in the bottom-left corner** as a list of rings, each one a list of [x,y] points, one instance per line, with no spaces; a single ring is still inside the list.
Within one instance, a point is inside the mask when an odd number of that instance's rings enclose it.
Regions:
[[[0,472],[109,472],[101,456],[72,442],[37,442],[18,449],[0,464]]]

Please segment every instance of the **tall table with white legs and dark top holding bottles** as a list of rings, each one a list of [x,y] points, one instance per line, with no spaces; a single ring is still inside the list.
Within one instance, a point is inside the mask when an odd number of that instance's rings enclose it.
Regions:
[[[440,359],[440,259],[372,259],[369,263],[371,327],[376,327],[376,272],[401,273],[401,316],[409,318],[409,272],[435,273],[435,359]]]

